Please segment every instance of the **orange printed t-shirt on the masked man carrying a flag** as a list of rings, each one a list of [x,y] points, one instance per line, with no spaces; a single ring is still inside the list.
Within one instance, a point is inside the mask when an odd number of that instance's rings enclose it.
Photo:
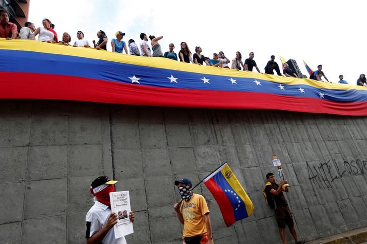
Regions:
[[[209,209],[202,195],[194,193],[190,201],[182,201],[179,211],[185,221],[182,238],[208,234],[203,216]]]

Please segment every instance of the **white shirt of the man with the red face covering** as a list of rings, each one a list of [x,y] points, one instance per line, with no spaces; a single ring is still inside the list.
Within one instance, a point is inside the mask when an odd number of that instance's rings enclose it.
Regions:
[[[97,233],[107,222],[111,209],[101,202],[96,201],[89,209],[85,217],[85,237],[91,237]],[[102,243],[106,244],[127,244],[125,236],[115,239],[113,227],[109,229],[106,236],[104,236]]]

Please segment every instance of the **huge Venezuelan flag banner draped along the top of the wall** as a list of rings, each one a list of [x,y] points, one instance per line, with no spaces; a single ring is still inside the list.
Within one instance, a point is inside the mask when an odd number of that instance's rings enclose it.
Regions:
[[[0,99],[367,115],[367,88],[0,38]]]

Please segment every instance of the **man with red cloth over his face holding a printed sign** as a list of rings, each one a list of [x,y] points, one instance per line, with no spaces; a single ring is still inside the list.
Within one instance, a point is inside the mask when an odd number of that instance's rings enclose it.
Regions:
[[[99,176],[90,187],[94,196],[94,205],[89,209],[85,217],[87,244],[126,244],[125,236],[115,238],[113,226],[117,223],[116,213],[111,213],[109,193],[114,192],[114,184],[117,181],[110,180],[107,176]],[[130,221],[134,222],[135,214],[130,212]]]

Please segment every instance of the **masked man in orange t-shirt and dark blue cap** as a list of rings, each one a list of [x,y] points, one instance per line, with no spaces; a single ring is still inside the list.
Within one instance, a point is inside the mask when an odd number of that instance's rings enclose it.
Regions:
[[[191,191],[189,179],[174,182],[182,201],[174,204],[177,218],[184,225],[182,244],[213,244],[212,224],[208,205],[202,195]]]

